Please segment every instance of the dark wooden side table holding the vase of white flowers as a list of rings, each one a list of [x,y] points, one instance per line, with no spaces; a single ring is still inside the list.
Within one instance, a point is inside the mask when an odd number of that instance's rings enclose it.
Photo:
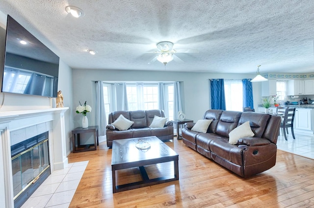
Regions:
[[[85,144],[81,145],[80,144],[80,134],[81,133],[89,133],[93,132],[94,133],[94,144]],[[78,140],[78,147],[76,146],[75,140]],[[86,152],[86,151],[92,151],[92,150],[97,150],[97,145],[99,145],[98,142],[98,126],[91,126],[88,128],[81,128],[78,127],[75,130],[72,130],[72,146],[73,146],[73,153],[79,153],[79,152]],[[92,146],[92,147],[91,147]]]

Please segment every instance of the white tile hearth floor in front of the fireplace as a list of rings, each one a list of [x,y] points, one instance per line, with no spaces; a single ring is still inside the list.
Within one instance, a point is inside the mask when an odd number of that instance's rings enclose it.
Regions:
[[[68,164],[54,171],[22,208],[68,208],[88,161]]]

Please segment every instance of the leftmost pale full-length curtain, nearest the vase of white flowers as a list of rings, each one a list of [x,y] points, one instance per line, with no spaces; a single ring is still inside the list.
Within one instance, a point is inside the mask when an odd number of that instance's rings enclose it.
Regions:
[[[106,114],[104,105],[103,82],[95,81],[96,84],[96,126],[98,126],[99,136],[105,135]]]

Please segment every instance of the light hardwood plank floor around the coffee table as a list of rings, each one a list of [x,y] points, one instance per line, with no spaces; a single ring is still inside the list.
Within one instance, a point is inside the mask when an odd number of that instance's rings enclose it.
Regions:
[[[277,151],[270,170],[248,179],[186,147],[166,142],[179,154],[179,181],[112,194],[111,149],[71,153],[69,163],[89,160],[70,208],[314,208],[314,160]],[[169,164],[148,169],[171,173]],[[118,173],[120,183],[139,179],[138,171]]]

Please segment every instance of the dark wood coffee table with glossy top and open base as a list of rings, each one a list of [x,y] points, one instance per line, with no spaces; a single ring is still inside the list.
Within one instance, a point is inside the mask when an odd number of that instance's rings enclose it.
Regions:
[[[135,147],[140,140],[151,145],[148,150],[140,150]],[[163,143],[156,136],[140,137],[134,139],[119,139],[112,141],[112,192],[120,192],[155,185],[163,182],[179,180],[179,155]],[[173,161],[174,175],[150,179],[146,173],[145,166],[163,162]],[[123,185],[116,185],[116,170],[138,167],[142,176],[142,181],[131,182]]]

